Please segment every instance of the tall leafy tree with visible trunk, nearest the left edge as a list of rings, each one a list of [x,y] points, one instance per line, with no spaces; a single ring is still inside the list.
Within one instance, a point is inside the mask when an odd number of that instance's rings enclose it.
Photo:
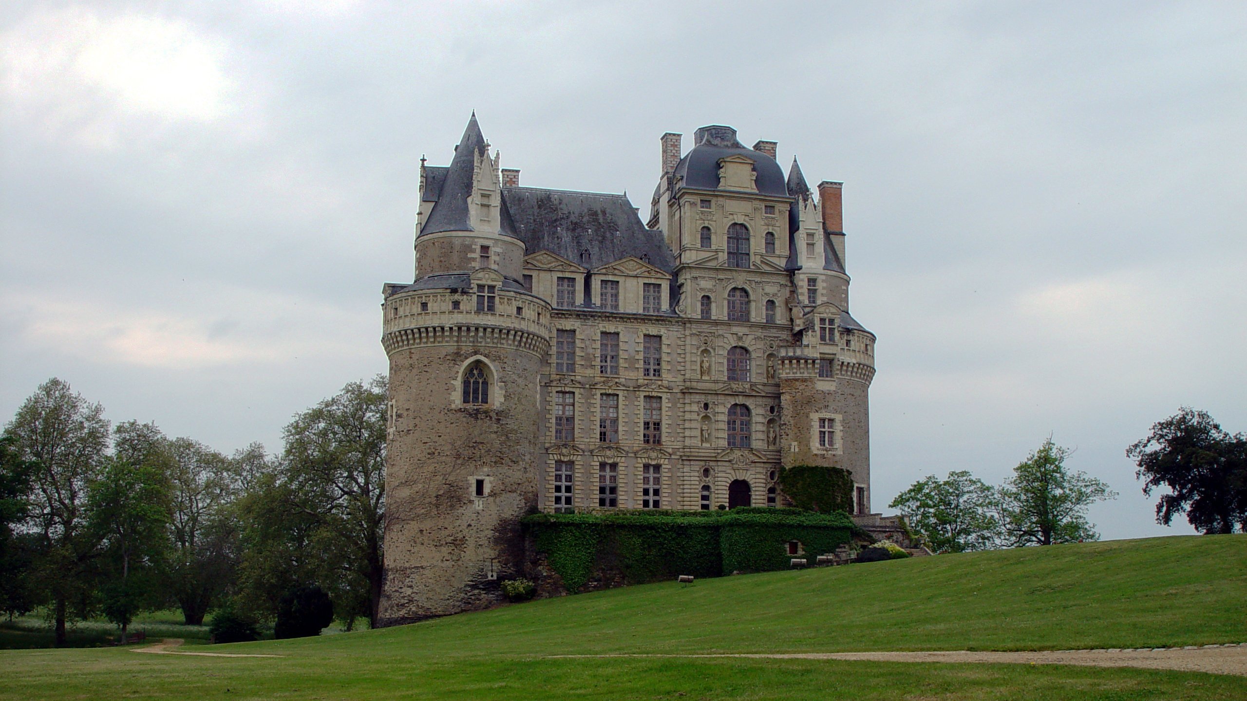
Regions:
[[[108,449],[108,422],[100,404],[52,378],[22,403],[5,433],[21,459],[35,464],[29,528],[39,534],[36,576],[52,601],[62,646],[66,620],[85,612],[94,591],[89,569],[99,539],[87,528],[86,496]]]

